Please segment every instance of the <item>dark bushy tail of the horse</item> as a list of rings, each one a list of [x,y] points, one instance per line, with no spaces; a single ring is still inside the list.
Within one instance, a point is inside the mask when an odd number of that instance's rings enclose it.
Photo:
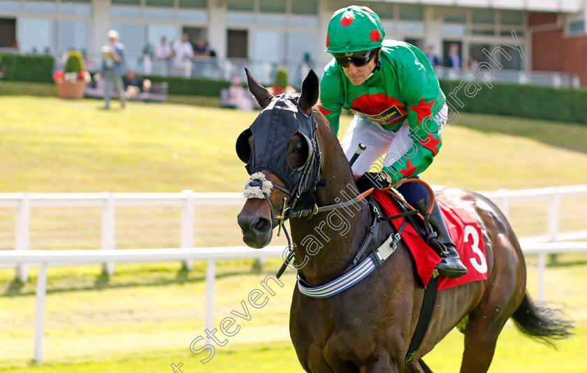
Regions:
[[[553,341],[570,337],[573,323],[560,309],[537,305],[528,293],[514,315],[514,323],[524,334],[538,342],[554,346]]]

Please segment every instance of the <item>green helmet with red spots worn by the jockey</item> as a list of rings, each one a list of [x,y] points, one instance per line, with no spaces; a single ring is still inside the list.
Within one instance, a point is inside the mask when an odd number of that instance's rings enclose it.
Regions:
[[[328,22],[326,52],[345,53],[382,46],[385,31],[379,15],[366,6],[347,6],[335,11]]]

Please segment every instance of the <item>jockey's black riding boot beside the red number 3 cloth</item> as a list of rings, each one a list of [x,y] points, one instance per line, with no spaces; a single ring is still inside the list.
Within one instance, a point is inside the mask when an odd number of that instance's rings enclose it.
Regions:
[[[430,215],[426,216],[429,205],[430,196],[426,196],[414,203],[414,207],[425,216],[424,228],[427,233],[426,240],[430,244],[430,247],[435,249],[442,259],[436,266],[436,270],[438,270],[438,275],[440,276],[458,279],[458,277],[467,274],[467,268],[461,262],[458,252],[456,252],[455,244],[452,242],[449,229],[444,223],[444,217],[442,216],[442,212],[440,212],[440,207],[435,203]]]

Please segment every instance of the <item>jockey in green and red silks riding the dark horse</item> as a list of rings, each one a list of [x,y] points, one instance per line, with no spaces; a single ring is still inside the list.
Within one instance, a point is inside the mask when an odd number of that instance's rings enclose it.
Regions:
[[[446,98],[426,55],[403,41],[384,41],[384,36],[379,16],[365,6],[337,10],[328,23],[326,52],[334,58],[321,78],[320,110],[337,134],[341,110],[354,114],[341,145],[347,159],[359,143],[367,145],[352,166],[360,191],[417,178],[440,149],[447,121]],[[398,191],[426,213],[430,196],[423,186],[408,182]],[[442,258],[439,275],[465,275],[467,268],[438,205],[430,214],[430,225]]]

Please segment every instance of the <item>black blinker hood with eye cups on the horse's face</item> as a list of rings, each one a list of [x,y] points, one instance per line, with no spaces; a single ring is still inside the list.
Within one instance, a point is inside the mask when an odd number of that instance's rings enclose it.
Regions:
[[[249,175],[268,170],[284,184],[290,196],[311,192],[320,177],[320,154],[316,142],[314,113],[306,116],[298,106],[300,94],[276,96],[261,111],[249,129],[236,140],[236,153]],[[307,159],[302,166],[291,168],[287,146],[292,136],[300,134],[307,145]],[[249,147],[249,137],[254,144]]]

